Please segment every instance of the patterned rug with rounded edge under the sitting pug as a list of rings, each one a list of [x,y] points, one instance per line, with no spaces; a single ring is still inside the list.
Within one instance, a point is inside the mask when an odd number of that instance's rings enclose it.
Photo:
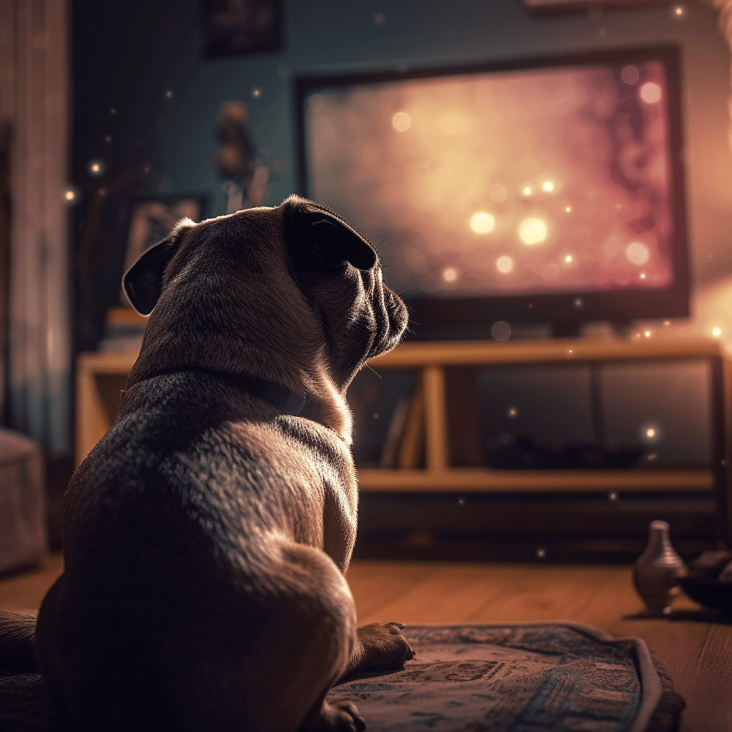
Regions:
[[[639,638],[578,623],[406,627],[417,657],[332,690],[368,732],[673,732],[684,700]],[[0,732],[56,732],[37,674],[0,669]],[[265,731],[262,731],[265,732]]]

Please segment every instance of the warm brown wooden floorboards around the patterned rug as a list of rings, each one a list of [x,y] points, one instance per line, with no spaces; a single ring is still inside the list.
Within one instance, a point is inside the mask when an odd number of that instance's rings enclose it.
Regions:
[[[0,607],[37,607],[60,572],[51,556],[40,569],[0,578]],[[687,700],[681,731],[732,731],[732,621],[686,599],[667,618],[643,616],[630,567],[358,561],[347,577],[361,623],[578,620],[638,635]]]

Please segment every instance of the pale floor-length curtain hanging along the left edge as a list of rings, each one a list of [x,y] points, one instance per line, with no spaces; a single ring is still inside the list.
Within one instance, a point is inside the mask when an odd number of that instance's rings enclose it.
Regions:
[[[0,0],[0,126],[10,130],[10,427],[70,453],[67,0]]]

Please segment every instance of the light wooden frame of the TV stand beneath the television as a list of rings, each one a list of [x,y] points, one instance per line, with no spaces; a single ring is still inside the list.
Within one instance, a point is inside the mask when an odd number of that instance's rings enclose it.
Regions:
[[[120,390],[136,354],[85,353],[77,370],[77,463],[108,429],[119,406]],[[451,366],[505,366],[567,362],[661,362],[709,359],[712,364],[714,466],[684,470],[572,470],[509,471],[490,468],[455,468],[450,465],[447,429],[445,369]],[[697,492],[725,497],[727,453],[725,361],[713,340],[641,338],[640,340],[555,339],[515,341],[404,343],[389,354],[372,359],[376,370],[417,370],[422,390],[425,468],[359,470],[363,491],[467,492]],[[726,509],[725,509],[726,510]]]

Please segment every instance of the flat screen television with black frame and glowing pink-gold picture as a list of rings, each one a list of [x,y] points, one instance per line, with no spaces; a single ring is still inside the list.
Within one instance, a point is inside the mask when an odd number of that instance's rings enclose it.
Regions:
[[[688,315],[676,46],[307,76],[295,95],[301,193],[376,244],[415,337]]]

